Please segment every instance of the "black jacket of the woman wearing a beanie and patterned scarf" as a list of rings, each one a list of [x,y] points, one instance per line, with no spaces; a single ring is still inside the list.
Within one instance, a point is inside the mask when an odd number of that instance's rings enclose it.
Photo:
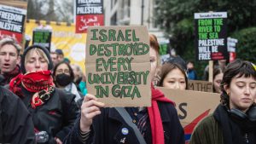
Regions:
[[[32,114],[35,129],[46,131],[49,134],[47,144],[54,144],[55,137],[63,141],[69,131],[72,130],[78,115],[79,109],[74,101],[74,95],[56,88],[54,95],[50,97],[47,103],[33,109],[31,106],[33,93],[22,88],[22,94],[25,95],[22,101]]]

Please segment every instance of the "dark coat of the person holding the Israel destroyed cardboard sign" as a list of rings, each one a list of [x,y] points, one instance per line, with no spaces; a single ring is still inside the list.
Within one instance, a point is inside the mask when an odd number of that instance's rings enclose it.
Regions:
[[[177,111],[172,104],[158,102],[162,124],[164,127],[166,144],[184,144],[183,127],[177,118]],[[123,135],[122,129],[127,128],[128,135]],[[114,108],[103,108],[102,113],[93,120],[90,137],[86,143],[93,144],[118,144],[125,138],[125,144],[137,144],[137,137],[124,119]],[[150,132],[150,131],[148,131]],[[150,132],[151,133],[151,132]],[[145,134],[147,135],[147,134]],[[152,137],[148,136],[145,141],[151,141]],[[150,140],[147,140],[150,139]],[[65,144],[80,144],[79,120],[75,124],[72,132],[67,136]]]

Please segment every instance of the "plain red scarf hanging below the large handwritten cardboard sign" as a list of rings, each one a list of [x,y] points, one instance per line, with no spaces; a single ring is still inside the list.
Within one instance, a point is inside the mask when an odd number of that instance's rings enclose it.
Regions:
[[[152,107],[148,107],[148,115],[151,126],[152,142],[153,144],[164,144],[164,129],[157,101],[169,102],[172,103],[172,105],[174,105],[174,102],[167,99],[159,89],[154,89],[153,84],[151,84],[151,92]]]

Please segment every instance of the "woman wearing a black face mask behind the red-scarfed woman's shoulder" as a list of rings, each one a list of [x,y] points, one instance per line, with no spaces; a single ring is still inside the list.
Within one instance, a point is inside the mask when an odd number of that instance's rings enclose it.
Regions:
[[[73,69],[65,61],[58,63],[53,70],[54,82],[57,88],[64,89],[75,95],[75,101],[79,101],[81,95],[75,84],[73,84]]]

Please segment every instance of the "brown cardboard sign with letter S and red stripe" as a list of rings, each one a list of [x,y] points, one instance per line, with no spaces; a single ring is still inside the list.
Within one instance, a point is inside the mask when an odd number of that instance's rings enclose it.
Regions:
[[[177,115],[183,125],[186,143],[189,142],[196,124],[214,112],[220,100],[219,94],[215,93],[163,87],[157,87],[157,89],[176,103]]]

